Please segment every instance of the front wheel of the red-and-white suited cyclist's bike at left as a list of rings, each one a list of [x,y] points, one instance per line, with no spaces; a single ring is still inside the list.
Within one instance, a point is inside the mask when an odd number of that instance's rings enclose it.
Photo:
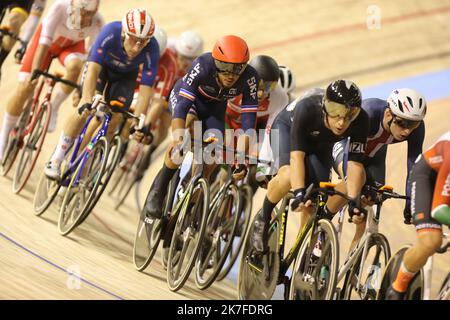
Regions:
[[[51,111],[46,101],[42,103],[35,115],[36,119],[32,119],[34,125],[30,128],[30,131],[24,138],[24,145],[19,150],[19,162],[12,185],[14,193],[19,193],[27,183],[44,144],[51,116]]]

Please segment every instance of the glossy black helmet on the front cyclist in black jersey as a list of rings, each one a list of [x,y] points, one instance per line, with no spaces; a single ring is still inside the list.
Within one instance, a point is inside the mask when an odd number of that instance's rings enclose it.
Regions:
[[[361,91],[350,80],[335,80],[329,84],[325,93],[326,99],[347,107],[361,108]]]

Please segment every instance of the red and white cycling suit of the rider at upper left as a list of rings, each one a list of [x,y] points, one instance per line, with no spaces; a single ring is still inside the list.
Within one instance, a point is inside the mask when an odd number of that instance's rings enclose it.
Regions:
[[[47,69],[53,57],[58,57],[63,65],[71,59],[86,59],[85,39],[91,44],[103,26],[103,18],[97,13],[89,27],[72,30],[67,26],[70,0],[58,0],[49,8],[47,15],[38,26],[30,45],[27,47],[19,74],[19,81],[27,79],[31,73],[34,55],[39,44],[49,46],[41,68]]]

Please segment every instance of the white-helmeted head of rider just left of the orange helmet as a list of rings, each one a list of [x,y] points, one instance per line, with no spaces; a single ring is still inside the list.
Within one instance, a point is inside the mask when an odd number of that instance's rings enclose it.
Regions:
[[[195,31],[185,31],[179,38],[169,39],[168,47],[176,53],[178,68],[183,73],[203,53],[203,38]]]

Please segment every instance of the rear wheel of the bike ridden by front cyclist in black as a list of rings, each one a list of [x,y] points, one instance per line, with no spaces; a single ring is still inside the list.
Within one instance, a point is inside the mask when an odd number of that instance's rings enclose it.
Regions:
[[[275,208],[278,217],[278,208]],[[258,215],[261,214],[259,210]],[[252,245],[254,227],[253,218],[245,236],[244,247],[238,274],[238,299],[240,300],[269,300],[272,298],[278,283],[280,273],[280,224],[279,218],[271,222],[269,227],[268,253],[255,253]],[[263,260],[265,259],[265,260]],[[265,267],[261,267],[265,265]]]

